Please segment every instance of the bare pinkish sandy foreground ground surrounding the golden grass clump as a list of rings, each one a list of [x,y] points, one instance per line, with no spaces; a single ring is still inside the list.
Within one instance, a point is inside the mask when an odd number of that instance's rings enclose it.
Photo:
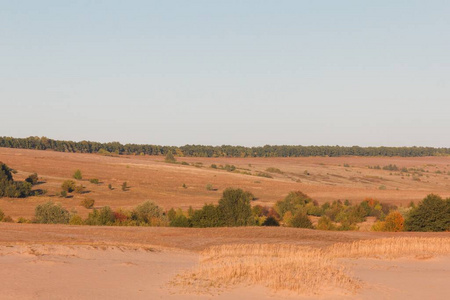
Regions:
[[[0,224],[0,298],[447,299],[450,295],[450,256],[339,259],[349,275],[361,283],[355,293],[328,289],[318,295],[299,295],[245,284],[199,292],[174,285],[173,280],[177,274],[198,266],[200,251],[211,245],[260,240],[320,248],[338,241],[391,235],[285,228],[134,229],[136,235],[122,242],[121,237],[128,236],[129,228]],[[179,243],[166,241],[182,236],[186,239]],[[224,238],[227,236],[229,239]],[[446,233],[429,236],[449,237]],[[188,239],[193,241],[189,243]]]

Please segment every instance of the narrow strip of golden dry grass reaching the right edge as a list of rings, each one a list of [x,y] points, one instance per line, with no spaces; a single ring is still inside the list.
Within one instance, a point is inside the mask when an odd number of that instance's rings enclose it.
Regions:
[[[332,257],[387,258],[432,257],[450,254],[450,238],[384,238],[337,243],[327,248]]]

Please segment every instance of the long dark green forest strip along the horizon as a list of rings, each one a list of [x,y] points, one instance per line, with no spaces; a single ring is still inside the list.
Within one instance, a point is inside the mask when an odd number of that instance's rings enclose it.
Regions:
[[[178,156],[191,157],[305,157],[305,156],[444,156],[450,155],[450,148],[433,147],[342,147],[342,146],[204,146],[185,145],[158,146],[121,144],[119,142],[73,142],[59,141],[46,137],[13,138],[0,137],[0,147],[54,150],[59,152],[100,153],[104,155],[165,155],[169,151]]]

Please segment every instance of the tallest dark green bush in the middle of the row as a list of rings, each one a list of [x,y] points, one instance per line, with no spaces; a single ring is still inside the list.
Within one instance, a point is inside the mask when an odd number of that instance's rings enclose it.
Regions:
[[[241,189],[225,189],[222,198],[219,200],[218,209],[226,226],[253,225],[248,192]]]

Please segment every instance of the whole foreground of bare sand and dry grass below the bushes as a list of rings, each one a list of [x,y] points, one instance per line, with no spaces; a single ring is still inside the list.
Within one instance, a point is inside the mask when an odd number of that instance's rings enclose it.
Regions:
[[[448,233],[6,223],[0,232],[2,299],[445,299],[450,292]]]

